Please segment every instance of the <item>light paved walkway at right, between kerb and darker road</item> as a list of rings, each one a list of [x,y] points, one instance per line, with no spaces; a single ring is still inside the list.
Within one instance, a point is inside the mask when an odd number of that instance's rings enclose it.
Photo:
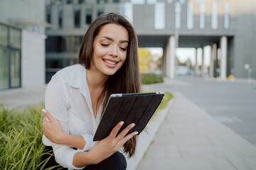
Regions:
[[[256,169],[256,147],[181,94],[137,167]]]

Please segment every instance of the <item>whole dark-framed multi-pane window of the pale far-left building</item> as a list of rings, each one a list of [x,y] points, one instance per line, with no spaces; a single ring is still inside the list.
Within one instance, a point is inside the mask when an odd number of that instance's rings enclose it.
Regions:
[[[0,23],[0,90],[21,87],[21,29]]]

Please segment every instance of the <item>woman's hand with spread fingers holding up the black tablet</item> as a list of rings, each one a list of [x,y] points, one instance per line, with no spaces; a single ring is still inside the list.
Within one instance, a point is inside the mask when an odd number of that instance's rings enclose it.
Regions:
[[[127,135],[127,132],[134,127],[134,123],[128,125],[122,132],[117,135],[118,131],[122,127],[124,122],[118,123],[110,132],[110,135],[103,140],[95,142],[95,145],[90,149],[89,153],[92,160],[94,160],[95,164],[102,162],[102,160],[110,157],[114,152],[124,145],[129,139],[137,135],[138,132],[131,132]],[[125,136],[127,135],[127,136]]]

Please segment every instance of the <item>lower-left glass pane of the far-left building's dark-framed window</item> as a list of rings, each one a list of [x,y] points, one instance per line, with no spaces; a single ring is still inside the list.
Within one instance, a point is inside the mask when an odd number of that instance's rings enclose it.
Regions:
[[[9,88],[9,62],[7,48],[0,47],[0,89]]]

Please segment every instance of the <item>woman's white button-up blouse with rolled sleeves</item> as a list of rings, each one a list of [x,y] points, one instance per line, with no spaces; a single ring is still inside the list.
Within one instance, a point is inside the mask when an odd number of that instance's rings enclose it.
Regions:
[[[66,67],[57,72],[46,88],[46,109],[56,118],[63,132],[82,135],[86,145],[84,149],[75,150],[67,145],[50,142],[43,135],[43,144],[53,147],[55,160],[68,169],[82,169],[73,166],[76,152],[86,152],[92,148],[92,137],[97,130],[102,114],[102,105],[93,114],[90,91],[86,81],[86,69],[80,64]]]

